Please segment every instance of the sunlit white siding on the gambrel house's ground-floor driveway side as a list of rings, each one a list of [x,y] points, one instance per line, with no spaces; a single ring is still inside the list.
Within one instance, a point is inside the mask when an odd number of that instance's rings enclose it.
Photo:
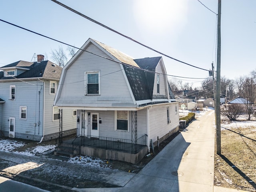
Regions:
[[[171,123],[167,123],[167,107],[169,106],[169,114]],[[157,136],[162,138],[168,132],[179,126],[179,114],[175,114],[175,106],[177,103],[170,103],[161,106],[153,106],[149,109],[149,133],[153,142],[157,140]]]

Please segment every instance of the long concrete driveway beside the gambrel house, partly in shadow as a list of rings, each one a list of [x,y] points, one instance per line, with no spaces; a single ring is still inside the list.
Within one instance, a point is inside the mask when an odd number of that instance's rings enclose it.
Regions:
[[[123,188],[80,192],[238,192],[214,186],[214,110],[192,122]]]

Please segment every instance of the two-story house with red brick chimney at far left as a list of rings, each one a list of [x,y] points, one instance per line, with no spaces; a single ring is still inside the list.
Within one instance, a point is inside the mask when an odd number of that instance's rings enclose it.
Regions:
[[[60,112],[53,102],[62,68],[38,55],[38,62],[18,61],[0,70],[0,135],[36,141],[57,138]],[[72,110],[63,115],[65,124],[76,125]]]

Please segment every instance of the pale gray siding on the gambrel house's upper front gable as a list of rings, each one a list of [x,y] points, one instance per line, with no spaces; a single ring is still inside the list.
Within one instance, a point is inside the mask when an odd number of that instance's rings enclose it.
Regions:
[[[93,44],[87,50],[108,57]],[[133,104],[120,64],[82,52],[67,70],[62,78],[57,105],[102,107],[115,103]],[[100,95],[85,96],[85,72],[89,71],[100,71]]]

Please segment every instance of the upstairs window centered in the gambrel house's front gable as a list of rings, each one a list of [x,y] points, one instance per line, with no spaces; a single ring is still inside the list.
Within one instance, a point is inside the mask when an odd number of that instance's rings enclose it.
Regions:
[[[100,94],[100,72],[86,72],[86,94]]]

